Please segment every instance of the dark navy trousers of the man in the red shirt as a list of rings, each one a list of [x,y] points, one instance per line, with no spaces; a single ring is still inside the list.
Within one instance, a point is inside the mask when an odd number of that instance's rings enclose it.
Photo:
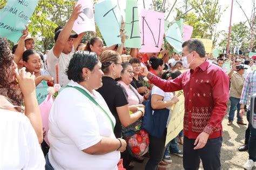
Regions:
[[[220,148],[222,137],[208,139],[206,145],[201,149],[194,150],[195,139],[184,137],[183,144],[183,167],[184,169],[199,169],[200,159],[204,169],[220,169]]]

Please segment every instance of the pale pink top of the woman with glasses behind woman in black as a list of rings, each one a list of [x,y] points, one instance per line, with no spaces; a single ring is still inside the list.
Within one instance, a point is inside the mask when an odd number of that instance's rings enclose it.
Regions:
[[[140,95],[138,92],[137,92],[137,90],[132,86],[132,85],[126,85],[125,83],[124,83],[124,81],[122,81],[122,80],[119,80],[118,81],[118,83],[120,83],[123,87],[124,87],[124,89],[126,90],[126,92],[127,92],[127,94],[128,94],[128,102],[129,102],[129,106],[130,105],[138,105],[138,104],[142,104],[142,101],[144,100],[143,99],[143,96],[142,95]],[[135,94],[135,93],[137,94]],[[138,98],[138,97],[139,98]]]

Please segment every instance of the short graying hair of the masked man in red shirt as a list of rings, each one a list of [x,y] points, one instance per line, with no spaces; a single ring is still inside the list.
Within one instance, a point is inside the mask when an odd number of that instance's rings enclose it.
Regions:
[[[201,40],[196,38],[186,40],[182,44],[182,47],[185,47],[185,46],[187,46],[188,52],[196,51],[201,58],[205,57],[205,53],[206,53],[205,46],[203,42],[201,42]]]

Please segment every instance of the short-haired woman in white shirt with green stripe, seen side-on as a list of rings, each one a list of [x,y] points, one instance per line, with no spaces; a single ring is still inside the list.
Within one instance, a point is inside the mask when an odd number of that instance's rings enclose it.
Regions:
[[[96,53],[74,53],[66,73],[70,83],[49,115],[50,151],[46,169],[117,169],[126,142],[113,133],[116,120],[103,97],[102,64]]]

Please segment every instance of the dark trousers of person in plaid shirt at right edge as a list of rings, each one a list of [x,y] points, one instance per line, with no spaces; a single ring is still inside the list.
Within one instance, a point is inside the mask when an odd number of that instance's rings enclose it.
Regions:
[[[247,118],[249,119],[250,115],[248,115],[247,112]],[[256,162],[256,128],[252,127],[252,124],[249,124],[250,126],[250,137],[249,137],[249,159]]]

